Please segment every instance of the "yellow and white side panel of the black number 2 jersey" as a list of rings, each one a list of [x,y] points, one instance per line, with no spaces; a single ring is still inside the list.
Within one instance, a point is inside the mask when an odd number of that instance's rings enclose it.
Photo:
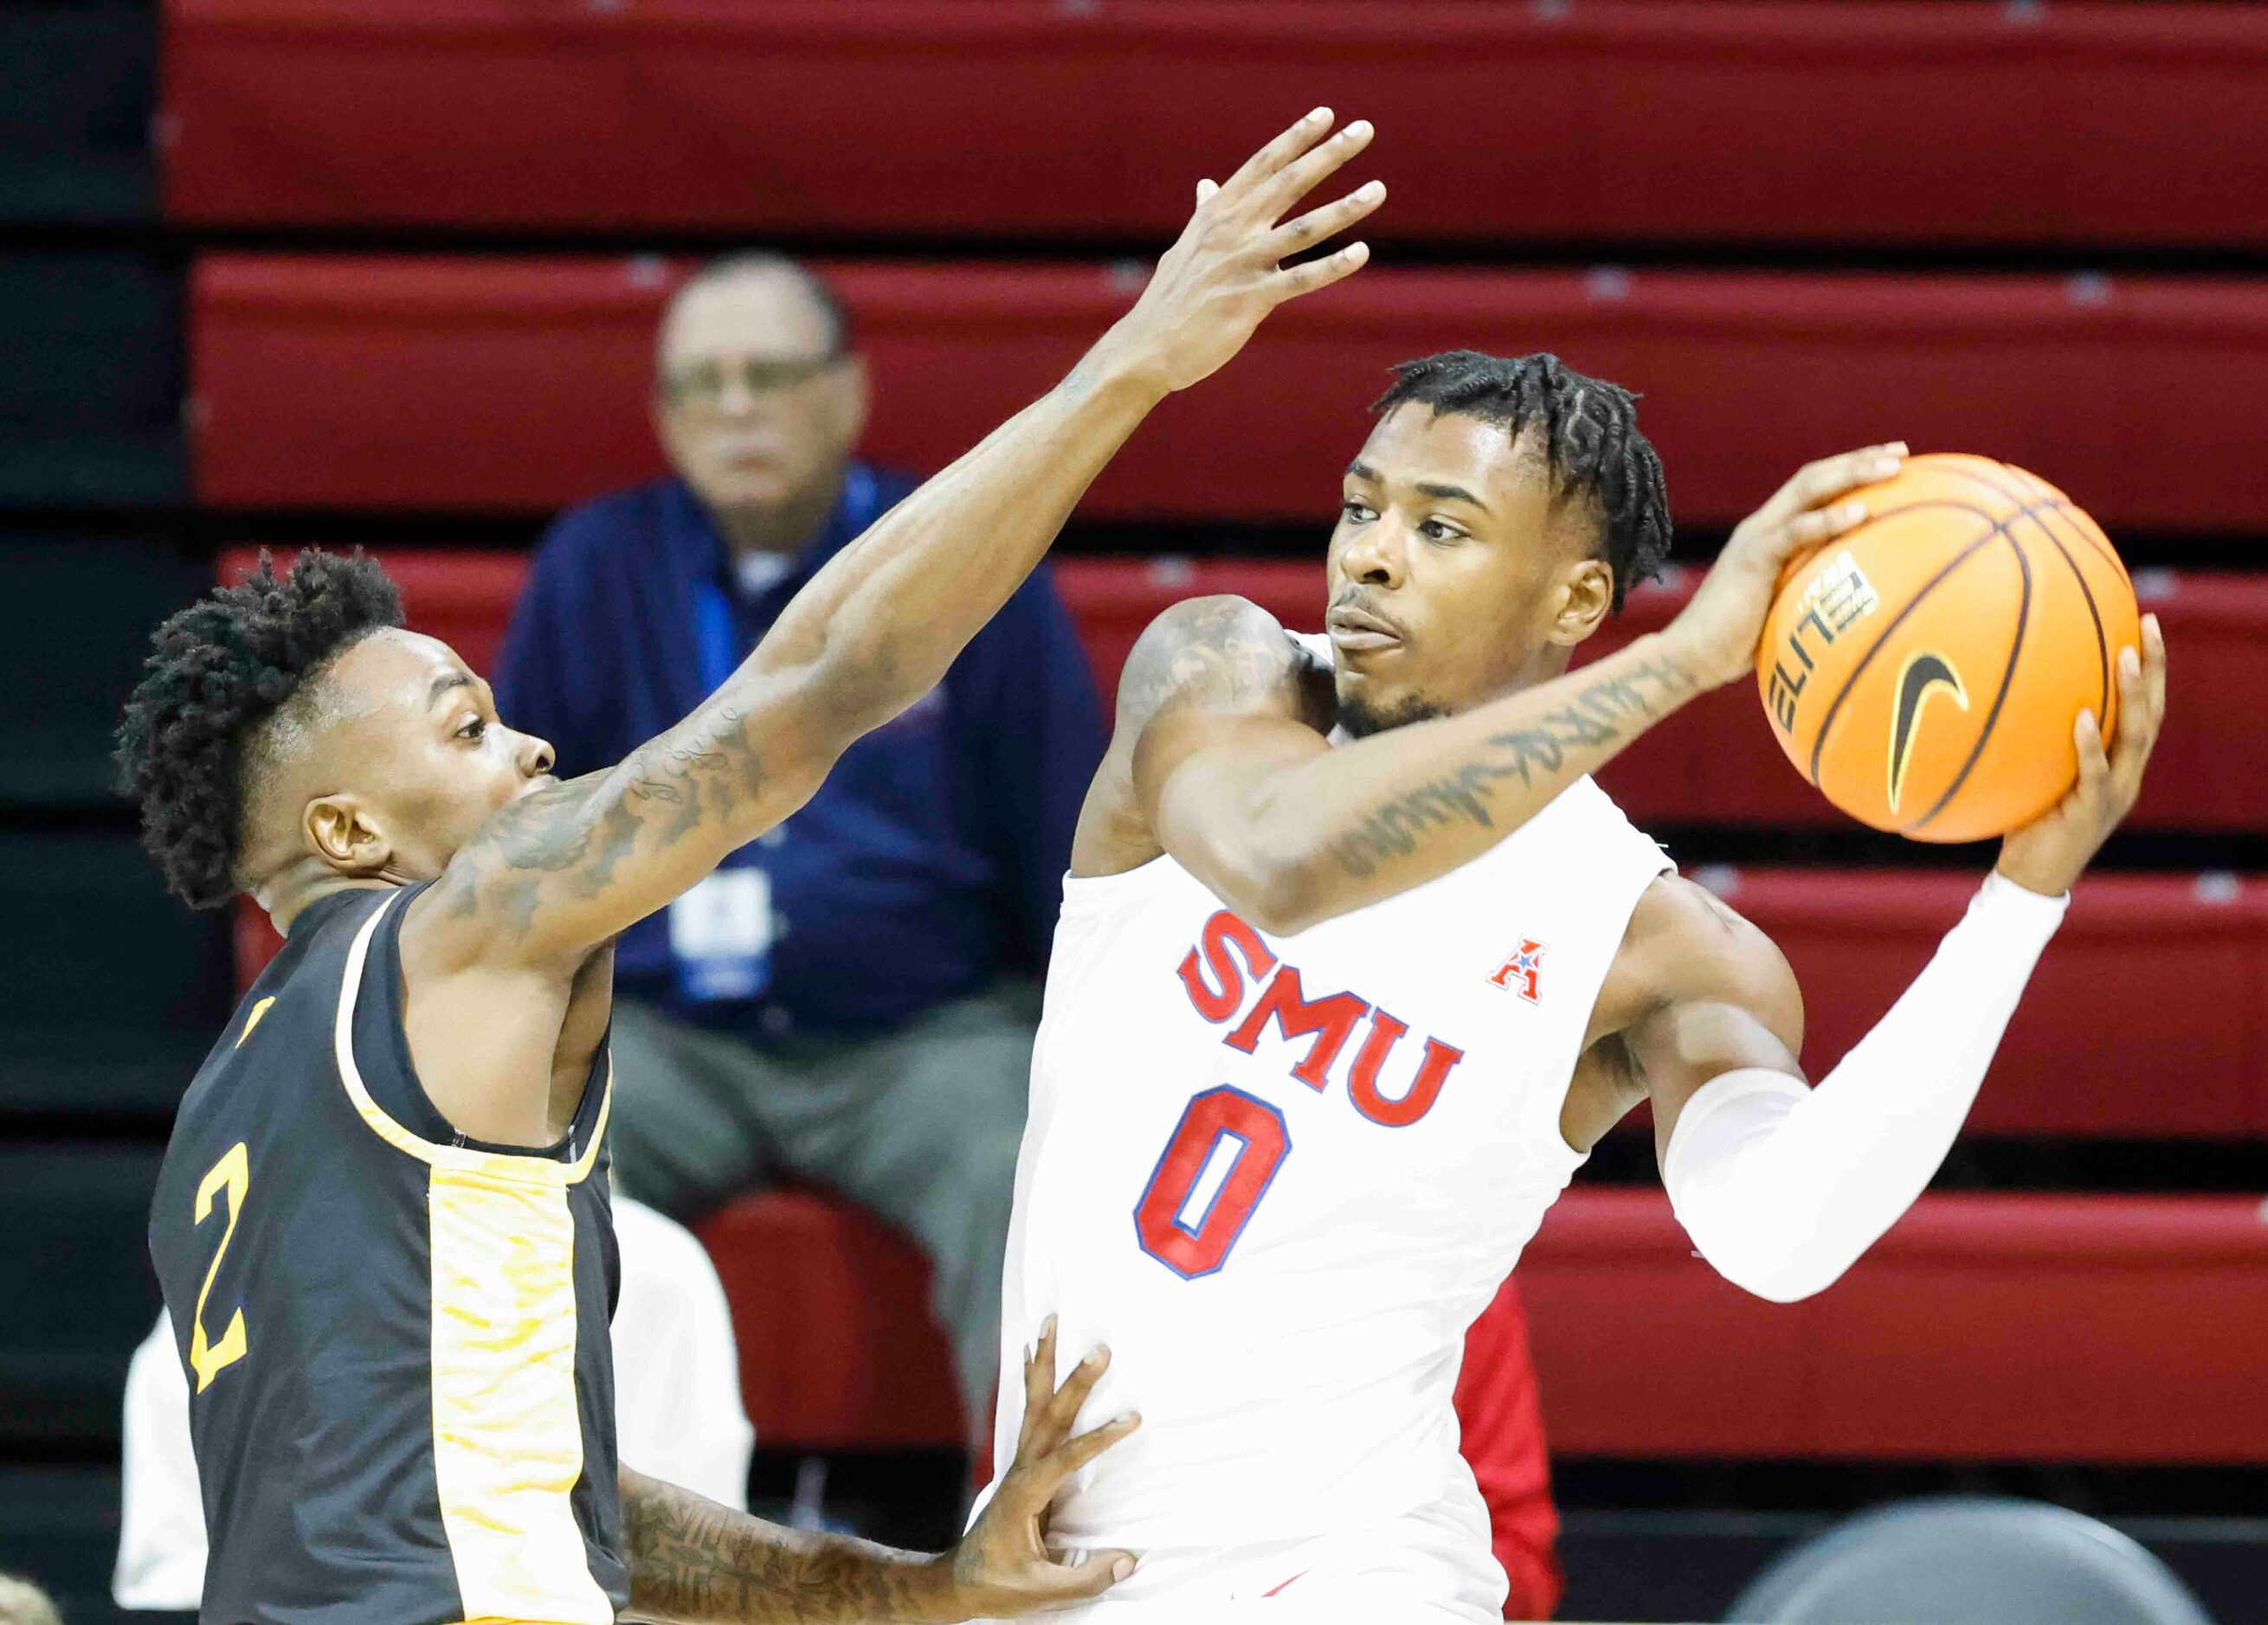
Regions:
[[[435,1167],[433,1478],[465,1618],[612,1625],[567,1500],[583,1475],[562,1185]]]

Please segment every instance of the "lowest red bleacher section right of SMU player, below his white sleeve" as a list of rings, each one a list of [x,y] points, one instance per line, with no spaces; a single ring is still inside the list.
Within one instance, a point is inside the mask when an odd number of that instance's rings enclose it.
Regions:
[[[1563,1455],[2268,1462],[2254,1197],[1923,1197],[1778,1305],[1660,1192],[1574,1190],[1517,1281]]]

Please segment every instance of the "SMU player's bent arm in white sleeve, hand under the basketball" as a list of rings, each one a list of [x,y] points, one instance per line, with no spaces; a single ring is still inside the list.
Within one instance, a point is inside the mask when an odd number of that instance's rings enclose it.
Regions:
[[[1678,902],[1658,882],[1665,895],[1640,904],[1626,945],[1637,963],[1617,975],[1635,977],[1644,1013],[1622,1052],[1653,1101],[1672,1206],[1735,1285],[1776,1301],[1819,1292],[1953,1149],[2071,884],[2141,793],[2166,716],[2157,616],[2141,635],[2141,650],[2118,653],[2112,750],[2082,714],[2080,782],[2003,841],[1969,913],[1819,1088],[1794,1061],[1803,1018],[1778,950],[1724,904],[1696,902],[1699,888]]]

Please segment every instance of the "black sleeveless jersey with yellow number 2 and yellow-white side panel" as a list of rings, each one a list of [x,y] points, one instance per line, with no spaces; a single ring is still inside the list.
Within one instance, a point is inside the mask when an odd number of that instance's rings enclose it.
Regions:
[[[612,1625],[601,1049],[567,1140],[449,1129],[401,1029],[411,891],[306,909],[191,1083],[150,1256],[191,1387],[204,1625]]]

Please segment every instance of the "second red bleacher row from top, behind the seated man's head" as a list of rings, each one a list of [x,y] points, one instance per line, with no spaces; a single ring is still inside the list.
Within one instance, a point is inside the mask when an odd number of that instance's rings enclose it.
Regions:
[[[866,449],[934,469],[1059,378],[1141,286],[1082,265],[830,265],[875,372]],[[678,265],[213,254],[191,276],[197,496],[544,510],[651,476],[653,322]],[[1318,544],[1386,367],[1556,349],[1647,392],[1683,521],[1903,437],[2064,485],[2121,528],[2268,512],[2268,283],[1465,272],[1379,265],[1279,310],[1095,480],[1111,519],[1302,519]],[[2182,433],[2136,419],[2200,399]]]

